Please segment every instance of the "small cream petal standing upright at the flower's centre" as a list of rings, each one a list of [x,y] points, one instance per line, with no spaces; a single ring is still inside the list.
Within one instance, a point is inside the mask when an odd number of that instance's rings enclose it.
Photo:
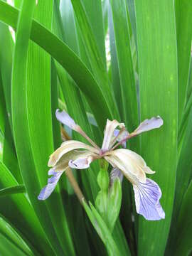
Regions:
[[[110,121],[109,119],[107,119],[104,139],[102,142],[102,151],[103,152],[107,151],[110,148],[110,143],[112,142],[114,129],[116,129],[117,127],[123,128],[124,124],[117,122],[117,120]]]

